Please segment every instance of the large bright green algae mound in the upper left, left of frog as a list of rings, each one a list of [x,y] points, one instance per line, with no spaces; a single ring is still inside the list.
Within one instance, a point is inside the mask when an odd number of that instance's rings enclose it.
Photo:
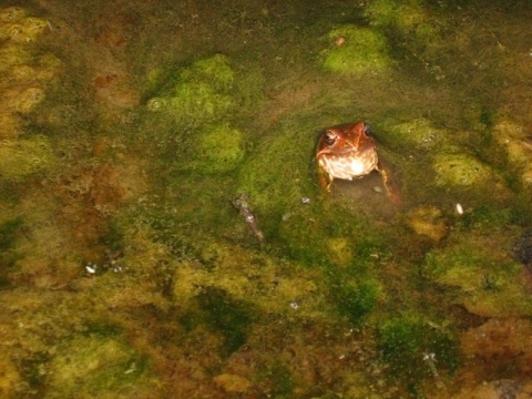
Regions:
[[[168,112],[180,124],[216,121],[235,105],[231,93],[235,73],[225,55],[198,60],[167,80],[173,82],[170,90],[150,99],[147,109]]]

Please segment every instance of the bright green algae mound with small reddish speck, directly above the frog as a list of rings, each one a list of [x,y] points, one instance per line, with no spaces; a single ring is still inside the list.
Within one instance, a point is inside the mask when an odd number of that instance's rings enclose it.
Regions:
[[[334,45],[323,61],[323,68],[327,71],[378,73],[391,65],[385,35],[371,29],[346,24],[330,31],[327,39]]]

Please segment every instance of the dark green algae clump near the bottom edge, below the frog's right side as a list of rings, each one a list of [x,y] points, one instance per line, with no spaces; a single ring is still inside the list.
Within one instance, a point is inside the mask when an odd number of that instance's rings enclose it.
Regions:
[[[391,376],[409,386],[434,378],[428,359],[423,361],[428,354],[434,354],[437,369],[453,371],[459,361],[457,339],[448,331],[431,327],[430,320],[421,316],[406,315],[382,321],[377,345]]]

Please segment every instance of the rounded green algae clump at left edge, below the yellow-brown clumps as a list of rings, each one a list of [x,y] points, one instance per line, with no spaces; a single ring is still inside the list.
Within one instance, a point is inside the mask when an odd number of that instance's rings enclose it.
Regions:
[[[49,170],[55,162],[45,137],[33,137],[0,143],[0,175],[21,181],[32,174]]]

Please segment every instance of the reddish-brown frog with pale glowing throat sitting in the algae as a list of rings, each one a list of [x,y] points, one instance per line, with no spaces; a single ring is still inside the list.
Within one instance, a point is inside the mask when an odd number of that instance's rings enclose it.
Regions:
[[[386,193],[397,203],[398,192],[389,182],[389,168],[379,160],[370,132],[371,127],[365,121],[326,129],[319,136],[316,151],[319,182],[330,193],[335,178],[352,181],[377,171]]]

